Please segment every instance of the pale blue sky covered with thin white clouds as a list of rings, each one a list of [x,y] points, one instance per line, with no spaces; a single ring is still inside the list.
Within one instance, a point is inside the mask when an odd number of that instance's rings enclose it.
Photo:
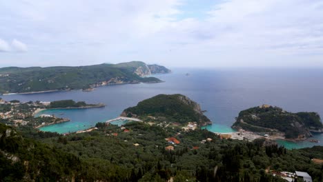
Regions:
[[[322,67],[323,1],[0,0],[0,67]]]

